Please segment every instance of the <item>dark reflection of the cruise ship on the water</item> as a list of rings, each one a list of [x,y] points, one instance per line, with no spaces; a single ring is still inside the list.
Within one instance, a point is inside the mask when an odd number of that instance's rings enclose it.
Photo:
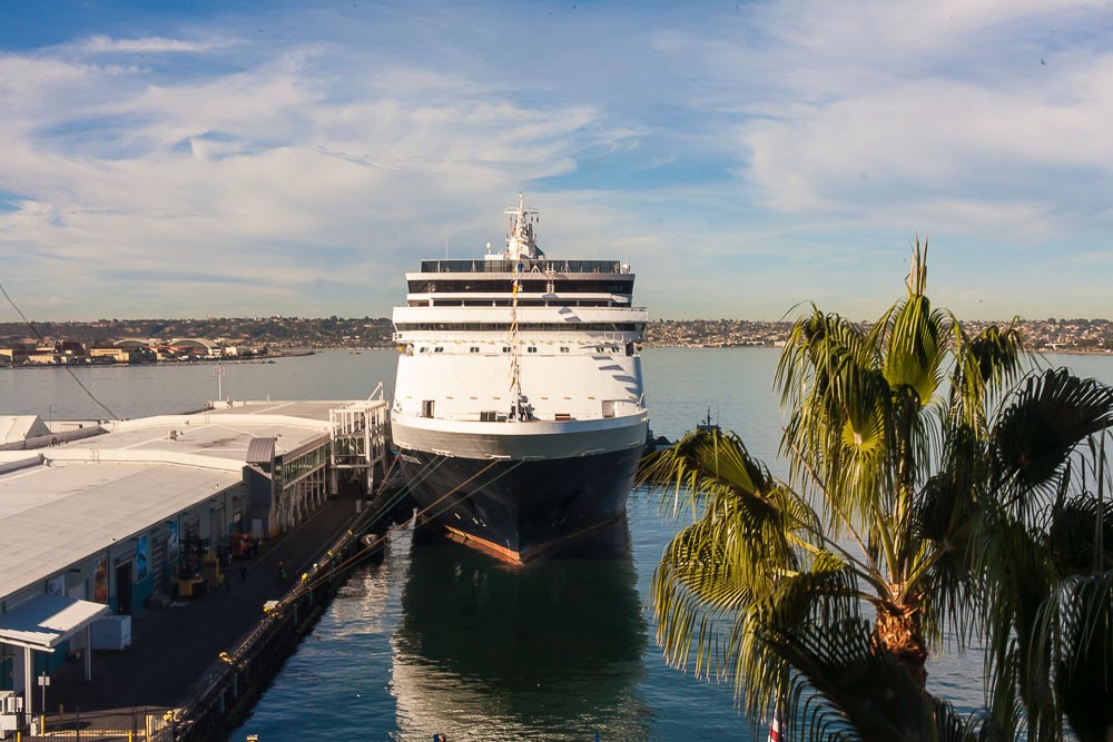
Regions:
[[[393,639],[398,739],[648,739],[624,516],[524,567],[420,534],[410,560]]]

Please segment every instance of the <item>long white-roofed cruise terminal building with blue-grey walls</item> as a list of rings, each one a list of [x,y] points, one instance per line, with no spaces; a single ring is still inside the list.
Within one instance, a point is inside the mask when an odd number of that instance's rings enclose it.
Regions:
[[[149,601],[204,588],[205,565],[228,553],[233,534],[258,542],[289,532],[342,485],[370,492],[382,472],[382,399],[213,405],[76,435],[7,419],[6,429],[26,432],[0,442],[9,711],[30,713],[35,679],[67,659],[92,679],[90,650],[125,649],[130,616]],[[0,708],[0,735],[4,719]]]

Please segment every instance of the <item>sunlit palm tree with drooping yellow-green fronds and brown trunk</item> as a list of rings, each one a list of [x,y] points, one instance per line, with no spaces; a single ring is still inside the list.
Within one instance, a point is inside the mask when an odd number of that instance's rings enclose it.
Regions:
[[[971,726],[924,692],[924,663],[947,629],[962,646],[981,615],[982,501],[996,503],[1008,478],[991,455],[1005,416],[991,414],[1011,408],[1022,344],[1015,323],[971,337],[932,309],[926,247],[915,245],[907,297],[871,327],[815,306],[795,324],[776,377],[789,482],[716,431],[643,463],[641,479],[692,518],[654,573],[658,639],[674,664],[730,676],[751,715],[787,699],[807,706],[814,733],[936,739]],[[1100,428],[1065,431],[1060,453]],[[1015,726],[1013,709],[982,733]]]

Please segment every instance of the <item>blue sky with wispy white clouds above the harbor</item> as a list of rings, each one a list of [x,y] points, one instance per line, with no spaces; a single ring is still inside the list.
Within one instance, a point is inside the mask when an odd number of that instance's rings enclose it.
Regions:
[[[917,235],[962,317],[1113,317],[1107,2],[308,4],[0,7],[24,314],[388,316],[523,190],[654,318],[875,317]]]

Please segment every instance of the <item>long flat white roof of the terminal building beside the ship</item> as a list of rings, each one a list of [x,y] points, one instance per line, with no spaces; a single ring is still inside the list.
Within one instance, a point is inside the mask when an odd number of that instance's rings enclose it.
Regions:
[[[327,441],[328,410],[352,404],[236,403],[112,423],[33,455],[0,452],[0,597],[238,485],[254,438],[274,437],[278,454]]]

